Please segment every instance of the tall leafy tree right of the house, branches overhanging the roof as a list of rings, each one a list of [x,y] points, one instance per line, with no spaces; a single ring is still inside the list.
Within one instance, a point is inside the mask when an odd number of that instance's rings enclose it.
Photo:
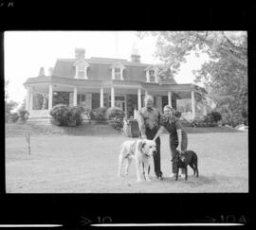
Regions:
[[[227,123],[247,122],[247,32],[154,31],[137,35],[157,36],[155,55],[174,75],[187,55],[207,53],[210,62],[194,72],[195,82],[204,82]]]

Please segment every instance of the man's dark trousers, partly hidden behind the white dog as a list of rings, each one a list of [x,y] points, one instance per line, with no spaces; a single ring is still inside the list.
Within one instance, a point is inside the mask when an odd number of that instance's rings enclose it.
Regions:
[[[158,131],[157,128],[154,128],[152,130],[146,129],[147,139],[153,140],[157,131]],[[156,152],[154,154],[154,166],[155,166],[155,175],[158,177],[158,176],[162,176],[162,174],[163,174],[161,172],[161,162],[160,162],[160,144],[161,144],[161,142],[160,142],[159,137],[156,138],[155,144],[156,144]]]

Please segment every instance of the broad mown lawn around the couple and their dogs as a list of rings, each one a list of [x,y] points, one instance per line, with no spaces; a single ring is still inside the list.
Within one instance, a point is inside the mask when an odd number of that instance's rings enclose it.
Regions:
[[[8,193],[205,193],[248,192],[247,132],[189,133],[189,150],[199,157],[199,177],[178,182],[171,173],[168,134],[161,136],[164,180],[137,183],[135,163],[119,178],[119,145],[128,137],[100,135],[32,134],[31,154],[22,135],[6,135],[6,189]]]

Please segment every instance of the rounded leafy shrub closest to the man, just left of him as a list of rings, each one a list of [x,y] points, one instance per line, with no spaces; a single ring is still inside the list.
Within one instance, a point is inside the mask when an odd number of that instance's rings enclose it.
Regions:
[[[111,107],[107,110],[106,116],[111,121],[111,125],[116,130],[121,130],[123,127],[123,118],[125,113],[118,107]]]

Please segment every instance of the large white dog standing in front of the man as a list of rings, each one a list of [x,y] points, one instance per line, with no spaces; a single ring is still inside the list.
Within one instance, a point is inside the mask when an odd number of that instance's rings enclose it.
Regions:
[[[121,145],[119,152],[119,176],[121,176],[121,167],[125,159],[127,159],[127,165],[125,168],[125,174],[128,175],[128,169],[131,165],[133,158],[136,161],[137,169],[137,182],[142,181],[142,163],[144,164],[145,178],[147,181],[151,181],[148,174],[149,161],[151,156],[155,154],[156,145],[155,141],[147,139],[127,140]]]

